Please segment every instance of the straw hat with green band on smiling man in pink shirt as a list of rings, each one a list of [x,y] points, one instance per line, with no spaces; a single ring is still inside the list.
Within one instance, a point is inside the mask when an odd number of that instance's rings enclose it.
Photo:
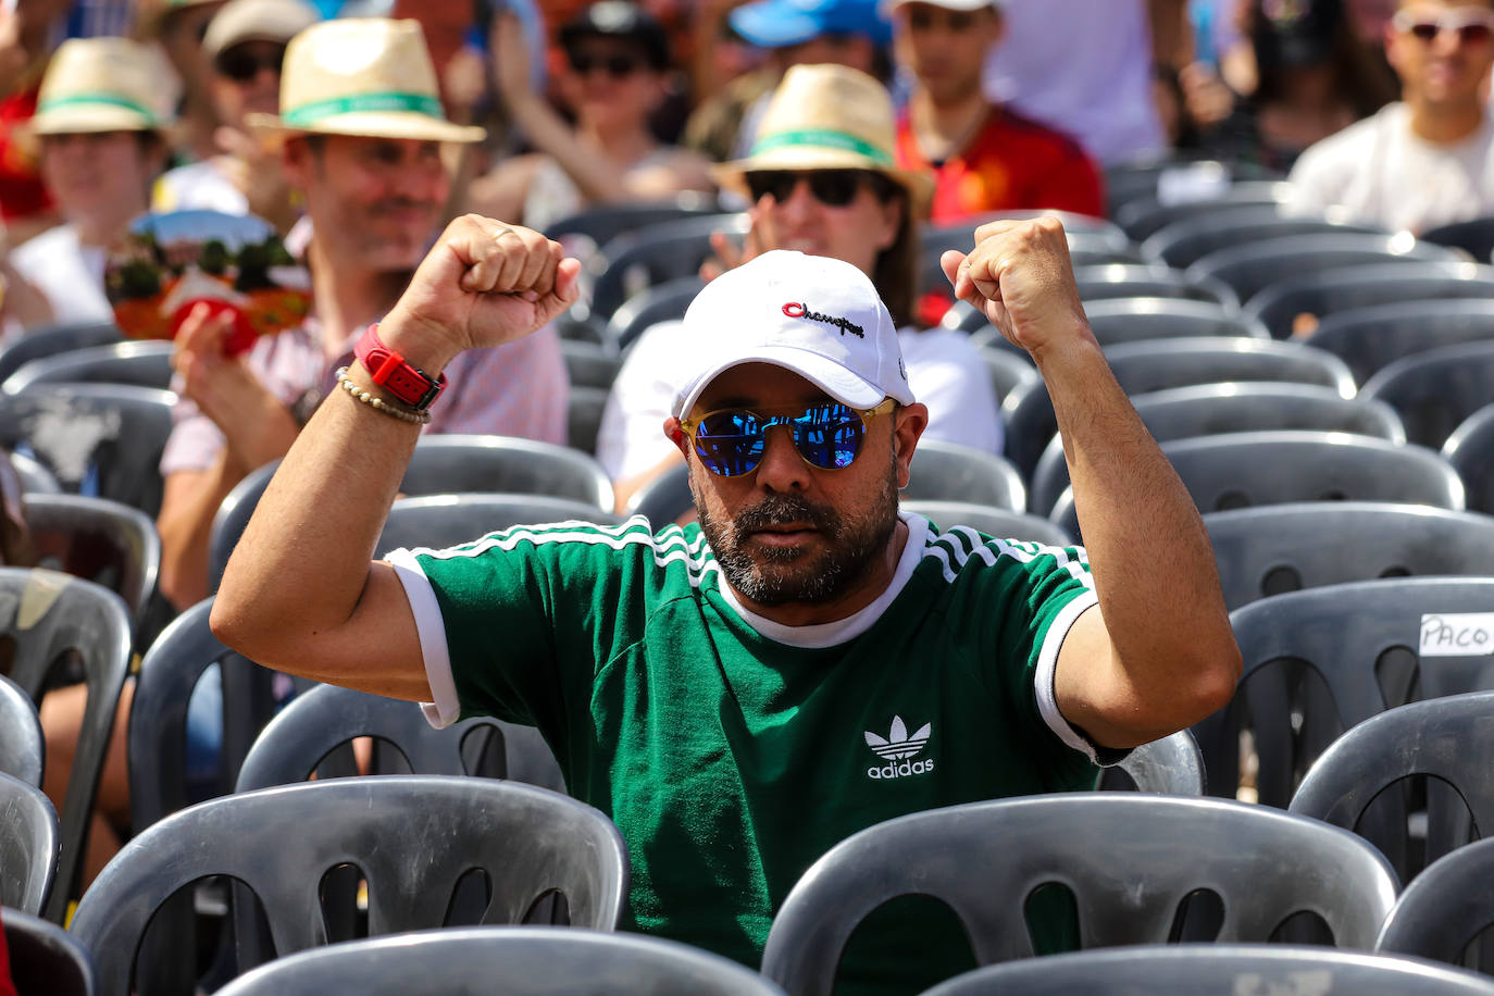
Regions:
[[[245,121],[266,137],[481,142],[486,134],[447,121],[420,22],[388,18],[323,21],[293,37],[281,69],[279,116],[251,113]]]

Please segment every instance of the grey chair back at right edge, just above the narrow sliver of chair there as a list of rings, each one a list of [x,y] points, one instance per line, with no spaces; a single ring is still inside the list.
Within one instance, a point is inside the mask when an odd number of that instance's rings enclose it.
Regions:
[[[1494,405],[1494,339],[1397,360],[1370,378],[1360,396],[1394,408],[1412,442],[1442,446],[1463,420]]]

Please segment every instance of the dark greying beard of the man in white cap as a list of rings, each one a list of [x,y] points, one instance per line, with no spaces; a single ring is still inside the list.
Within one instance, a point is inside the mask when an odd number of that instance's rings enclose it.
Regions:
[[[769,494],[731,521],[713,517],[704,502],[696,509],[716,563],[737,591],[757,605],[819,605],[855,590],[886,553],[898,526],[896,476],[889,473],[865,511],[847,515],[799,494]],[[822,548],[751,542],[754,532],[790,523],[813,527]]]

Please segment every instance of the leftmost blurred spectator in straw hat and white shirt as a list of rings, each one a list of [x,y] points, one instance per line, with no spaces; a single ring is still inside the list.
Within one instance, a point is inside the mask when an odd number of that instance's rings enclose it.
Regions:
[[[55,321],[112,320],[105,255],[146,209],[166,164],[160,73],[160,60],[137,42],[73,39],[42,81],[37,113],[24,127],[39,142],[42,178],[66,224],[16,246],[9,261]]]

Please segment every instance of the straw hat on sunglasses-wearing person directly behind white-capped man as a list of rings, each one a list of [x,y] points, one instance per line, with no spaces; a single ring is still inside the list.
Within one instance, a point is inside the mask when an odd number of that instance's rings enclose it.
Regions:
[[[922,214],[934,178],[898,169],[896,116],[886,87],[846,66],[793,66],[757,127],[751,154],[713,167],[716,182],[748,196],[754,170],[865,169],[886,173]]]

